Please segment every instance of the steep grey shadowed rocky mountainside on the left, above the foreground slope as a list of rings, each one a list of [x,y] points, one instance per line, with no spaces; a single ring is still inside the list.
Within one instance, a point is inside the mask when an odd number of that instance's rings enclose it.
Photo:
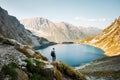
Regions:
[[[48,40],[34,36],[30,31],[26,30],[14,16],[8,15],[8,12],[1,7],[0,36],[15,39],[20,43],[31,46],[49,44]]]

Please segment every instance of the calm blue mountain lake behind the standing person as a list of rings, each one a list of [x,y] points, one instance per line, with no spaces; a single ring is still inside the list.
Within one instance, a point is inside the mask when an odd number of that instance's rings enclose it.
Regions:
[[[50,55],[52,48],[55,48],[56,60],[69,66],[79,66],[80,64],[105,57],[104,51],[101,49],[84,44],[57,44],[39,51],[49,60],[52,60]]]

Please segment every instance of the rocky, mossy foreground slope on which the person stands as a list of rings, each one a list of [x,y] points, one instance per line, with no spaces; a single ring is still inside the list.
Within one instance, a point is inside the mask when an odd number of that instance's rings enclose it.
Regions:
[[[86,80],[61,62],[50,62],[38,51],[0,36],[0,80]]]

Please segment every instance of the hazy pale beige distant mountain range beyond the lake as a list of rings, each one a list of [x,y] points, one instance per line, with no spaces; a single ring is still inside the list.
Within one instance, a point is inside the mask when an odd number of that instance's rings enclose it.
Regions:
[[[77,27],[69,23],[54,23],[45,18],[29,18],[20,21],[26,29],[49,41],[61,43],[95,36],[101,29]]]

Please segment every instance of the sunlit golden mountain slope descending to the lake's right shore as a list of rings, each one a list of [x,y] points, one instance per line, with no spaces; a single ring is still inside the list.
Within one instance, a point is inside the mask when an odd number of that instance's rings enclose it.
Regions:
[[[99,35],[77,43],[87,43],[103,49],[107,56],[120,55],[120,17]]]

